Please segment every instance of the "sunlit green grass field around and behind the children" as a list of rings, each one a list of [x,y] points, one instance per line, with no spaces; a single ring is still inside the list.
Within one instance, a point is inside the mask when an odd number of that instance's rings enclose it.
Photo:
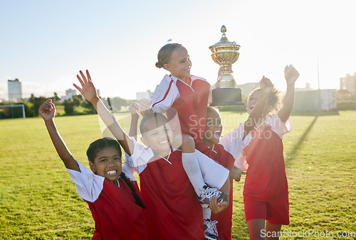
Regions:
[[[225,133],[247,117],[221,115]],[[128,115],[118,118],[127,129]],[[282,230],[313,230],[320,236],[333,231],[335,239],[355,239],[338,238],[337,231],[356,231],[356,111],[291,118],[294,129],[283,138],[290,225]],[[61,116],[56,124],[73,156],[88,166],[85,151],[101,137],[98,116]],[[1,120],[0,149],[0,239],[93,236],[88,204],[78,196],[41,118]],[[244,177],[234,183],[234,239],[248,239],[243,186]],[[310,239],[318,239],[318,234]]]

